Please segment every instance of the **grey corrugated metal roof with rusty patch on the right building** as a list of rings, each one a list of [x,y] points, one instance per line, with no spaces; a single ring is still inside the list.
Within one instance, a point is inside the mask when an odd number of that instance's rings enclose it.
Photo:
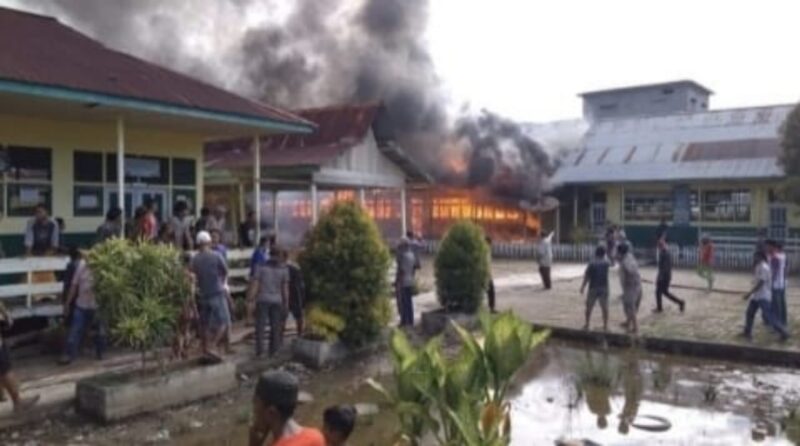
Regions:
[[[600,121],[555,174],[557,184],[765,179],[778,165],[791,105]]]

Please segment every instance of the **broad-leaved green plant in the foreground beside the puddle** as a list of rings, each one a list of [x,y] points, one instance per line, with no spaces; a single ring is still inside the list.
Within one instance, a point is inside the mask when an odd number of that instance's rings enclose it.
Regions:
[[[374,380],[398,417],[397,443],[417,446],[506,446],[510,443],[510,407],[506,400],[513,377],[531,352],[548,337],[510,312],[481,313],[482,337],[453,322],[461,341],[454,356],[442,352],[441,338],[421,348],[394,331],[390,350],[394,388]]]

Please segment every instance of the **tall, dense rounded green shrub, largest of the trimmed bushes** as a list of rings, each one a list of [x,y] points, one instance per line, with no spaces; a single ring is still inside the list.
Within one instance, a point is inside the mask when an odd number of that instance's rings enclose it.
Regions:
[[[389,321],[389,250],[355,203],[337,203],[308,234],[300,256],[307,301],[345,321],[349,345],[375,339]]]

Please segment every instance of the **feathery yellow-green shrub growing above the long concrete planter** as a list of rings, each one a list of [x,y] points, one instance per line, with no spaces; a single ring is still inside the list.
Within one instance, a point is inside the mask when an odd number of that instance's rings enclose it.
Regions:
[[[190,296],[180,254],[165,245],[114,238],[87,256],[99,312],[112,341],[144,355],[168,345]]]

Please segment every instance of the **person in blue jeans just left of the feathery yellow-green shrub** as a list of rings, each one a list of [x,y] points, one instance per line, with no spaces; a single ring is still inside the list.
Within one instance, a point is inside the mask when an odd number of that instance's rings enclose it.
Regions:
[[[106,348],[105,327],[97,314],[94,276],[86,260],[80,261],[72,278],[67,300],[64,303],[65,318],[69,316],[70,311],[72,311],[72,321],[64,354],[61,356],[59,364],[67,365],[77,358],[81,341],[89,329],[94,329],[95,356],[98,360],[103,359]]]

